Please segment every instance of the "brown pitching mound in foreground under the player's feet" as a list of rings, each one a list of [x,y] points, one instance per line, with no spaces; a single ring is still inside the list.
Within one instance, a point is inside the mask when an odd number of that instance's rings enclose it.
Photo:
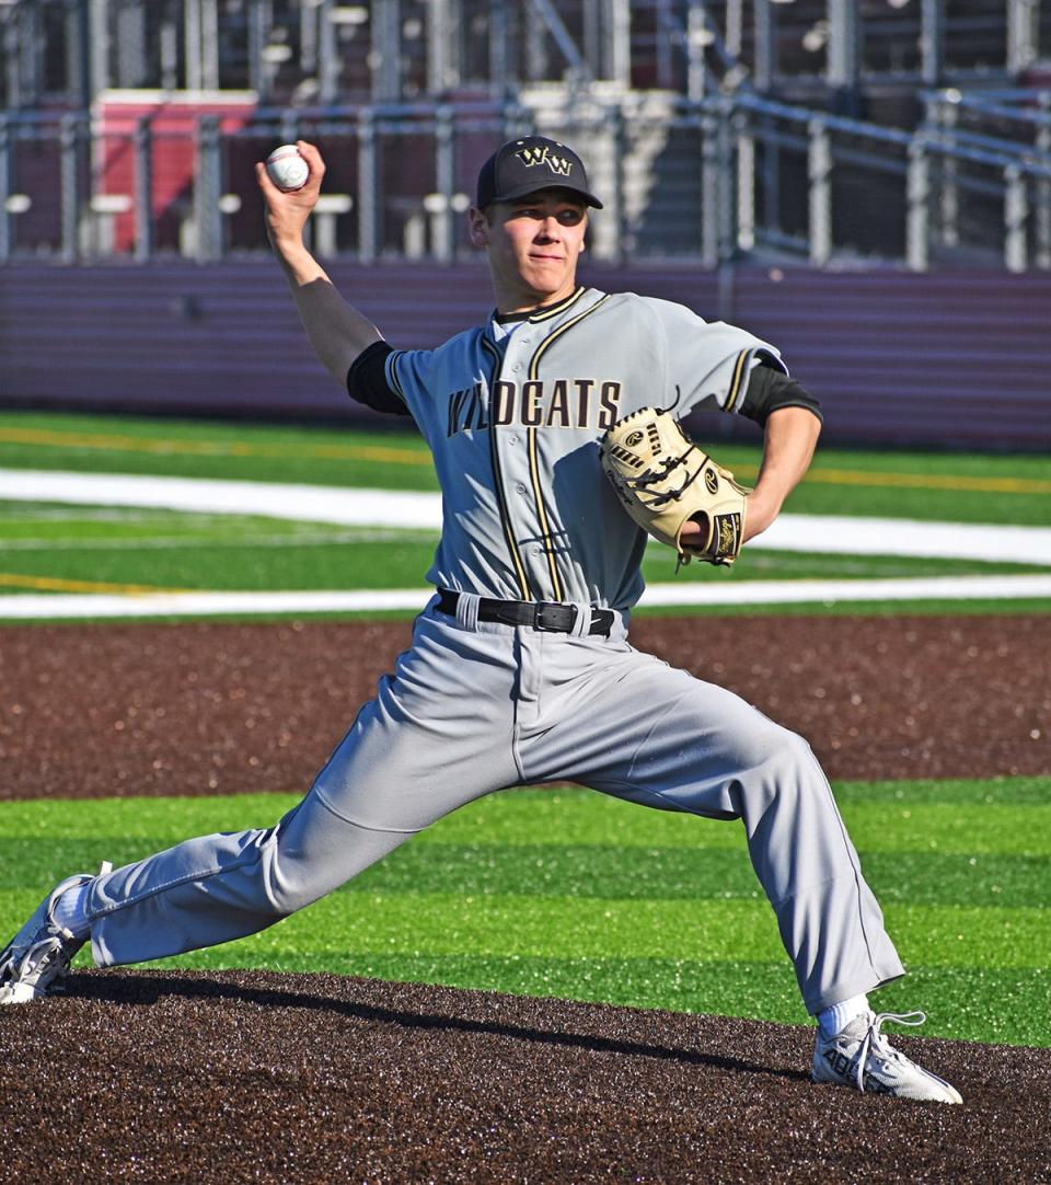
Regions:
[[[1051,1050],[896,1040],[963,1107],[808,1081],[813,1031],[331,975],[89,972],[0,1017],[11,1180],[1051,1180]]]

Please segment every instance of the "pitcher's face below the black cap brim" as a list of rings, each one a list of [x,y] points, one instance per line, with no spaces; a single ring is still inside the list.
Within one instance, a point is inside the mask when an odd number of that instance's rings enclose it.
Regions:
[[[523,312],[569,296],[587,229],[587,206],[558,190],[499,201],[488,218],[473,210],[472,239],[488,251],[500,312]]]

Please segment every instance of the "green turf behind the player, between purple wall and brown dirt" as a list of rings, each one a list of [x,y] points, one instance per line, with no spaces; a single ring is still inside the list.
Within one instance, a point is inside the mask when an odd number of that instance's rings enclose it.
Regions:
[[[719,444],[748,480],[758,446]],[[248,423],[0,414],[0,467],[91,470],[434,491],[430,456],[412,433],[281,428]],[[787,507],[797,513],[890,515],[1047,525],[1045,457],[864,453],[822,449]],[[0,594],[423,589],[437,536],[346,529],[233,514],[0,501]],[[860,579],[992,576],[1049,569],[974,559],[800,555],[754,549],[735,579]],[[720,582],[706,564],[674,574],[667,549],[643,564],[649,584]],[[775,611],[845,611],[809,604]],[[987,609],[966,601],[917,601],[919,611]],[[1006,611],[1046,607],[1010,601]],[[762,607],[756,607],[762,608]],[[853,606],[846,606],[850,610]],[[878,608],[870,604],[866,611]],[[645,608],[643,611],[661,611]],[[681,610],[675,610],[681,611]],[[741,611],[716,607],[710,611]]]

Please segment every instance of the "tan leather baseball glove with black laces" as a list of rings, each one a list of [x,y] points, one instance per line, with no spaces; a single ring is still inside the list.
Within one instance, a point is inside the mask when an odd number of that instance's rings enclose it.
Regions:
[[[694,556],[732,564],[741,552],[748,491],[690,440],[669,411],[642,408],[610,428],[600,444],[602,468],[635,523],[674,547],[680,563]],[[684,546],[682,527],[703,529],[700,546]]]

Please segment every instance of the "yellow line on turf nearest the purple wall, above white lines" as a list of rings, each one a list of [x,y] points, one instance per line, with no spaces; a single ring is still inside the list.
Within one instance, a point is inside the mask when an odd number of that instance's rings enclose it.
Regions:
[[[194,456],[302,456],[334,461],[382,461],[390,465],[430,466],[429,453],[422,449],[390,448],[374,444],[249,444],[231,441],[150,440],[139,436],[102,433],[65,433],[37,428],[0,428],[0,442],[39,444],[47,448],[88,448],[120,453],[188,454]],[[755,466],[737,466],[741,476],[755,476]],[[832,486],[870,486],[895,489],[955,489],[987,494],[1051,494],[1051,481],[1037,478],[975,478],[962,474],[880,473],[861,469],[826,469],[816,467],[807,482]]]

